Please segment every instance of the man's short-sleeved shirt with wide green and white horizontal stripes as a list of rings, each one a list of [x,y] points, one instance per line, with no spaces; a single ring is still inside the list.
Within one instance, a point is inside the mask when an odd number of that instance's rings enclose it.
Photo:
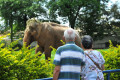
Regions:
[[[54,64],[61,66],[58,80],[80,80],[81,66],[85,64],[84,51],[74,42],[60,46]]]

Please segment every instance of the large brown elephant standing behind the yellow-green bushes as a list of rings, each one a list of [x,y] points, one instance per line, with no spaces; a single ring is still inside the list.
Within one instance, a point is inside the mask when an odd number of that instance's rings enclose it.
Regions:
[[[63,45],[60,40],[63,40],[63,34],[66,29],[70,27],[63,26],[54,22],[40,22],[37,19],[29,19],[26,22],[26,29],[24,31],[23,44],[29,46],[33,41],[37,41],[39,45],[35,49],[35,53],[39,51],[41,53],[44,52],[45,59],[51,58],[52,48],[58,48]],[[79,34],[77,34],[77,39],[75,43],[80,47],[81,46],[81,38]],[[63,40],[64,41],[64,40]]]

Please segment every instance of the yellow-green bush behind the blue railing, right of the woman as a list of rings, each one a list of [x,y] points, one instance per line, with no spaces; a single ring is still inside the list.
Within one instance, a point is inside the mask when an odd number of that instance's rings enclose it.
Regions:
[[[112,42],[108,50],[101,50],[105,59],[105,70],[120,69],[120,45],[114,47]],[[120,73],[111,73],[111,80],[119,80]]]

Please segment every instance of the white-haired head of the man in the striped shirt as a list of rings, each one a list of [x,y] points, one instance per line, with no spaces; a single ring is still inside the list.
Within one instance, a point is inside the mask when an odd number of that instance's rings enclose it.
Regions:
[[[69,28],[64,31],[64,36],[65,41],[75,41],[76,38],[76,33],[72,28]]]

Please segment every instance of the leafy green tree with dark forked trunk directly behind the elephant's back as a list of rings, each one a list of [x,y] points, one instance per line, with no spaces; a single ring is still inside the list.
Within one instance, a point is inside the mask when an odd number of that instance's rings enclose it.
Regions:
[[[103,0],[107,1],[107,0]],[[75,27],[77,17],[84,12],[81,10],[92,6],[90,8],[100,7],[100,0],[50,0],[48,8],[50,11],[50,16],[56,18],[58,15],[60,17],[65,17],[68,19],[71,28]],[[88,8],[89,9],[89,8]]]

